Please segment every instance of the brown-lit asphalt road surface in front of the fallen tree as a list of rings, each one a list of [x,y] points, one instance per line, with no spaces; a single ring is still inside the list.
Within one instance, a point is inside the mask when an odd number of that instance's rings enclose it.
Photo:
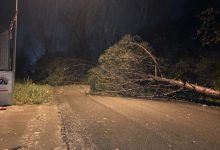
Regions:
[[[68,149],[219,150],[220,111],[202,105],[56,90]]]

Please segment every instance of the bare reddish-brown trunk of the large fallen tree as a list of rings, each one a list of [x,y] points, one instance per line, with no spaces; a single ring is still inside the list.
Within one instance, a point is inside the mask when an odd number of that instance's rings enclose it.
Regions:
[[[214,90],[214,89],[211,89],[211,88],[206,88],[206,87],[199,86],[199,85],[196,85],[196,84],[191,84],[191,83],[188,83],[188,82],[183,82],[181,80],[174,80],[174,79],[168,79],[168,78],[163,78],[163,77],[156,77],[156,76],[153,76],[153,75],[148,75],[147,78],[148,79],[149,78],[153,79],[155,81],[165,82],[165,83],[168,83],[168,84],[173,85],[173,86],[183,87],[184,89],[192,90],[194,92],[206,95],[208,97],[220,99],[220,91],[218,91],[218,90]]]

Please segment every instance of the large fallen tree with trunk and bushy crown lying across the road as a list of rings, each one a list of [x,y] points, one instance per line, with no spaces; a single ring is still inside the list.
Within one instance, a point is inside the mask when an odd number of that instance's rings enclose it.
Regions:
[[[158,59],[147,42],[126,35],[99,58],[89,71],[91,92],[131,97],[197,99],[201,95],[220,99],[220,91],[162,76]],[[195,94],[194,94],[195,93]]]

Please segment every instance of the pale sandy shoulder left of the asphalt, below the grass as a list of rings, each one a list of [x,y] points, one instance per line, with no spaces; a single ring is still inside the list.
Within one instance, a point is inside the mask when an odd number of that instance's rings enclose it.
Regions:
[[[0,111],[0,149],[65,149],[56,105],[11,106]]]

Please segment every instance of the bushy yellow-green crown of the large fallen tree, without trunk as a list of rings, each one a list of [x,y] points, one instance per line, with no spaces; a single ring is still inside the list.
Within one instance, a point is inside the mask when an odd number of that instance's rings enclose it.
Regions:
[[[137,46],[140,45],[140,46]],[[89,72],[92,91],[101,94],[145,97],[155,92],[146,75],[154,73],[155,62],[143,50],[153,52],[149,43],[126,35],[99,58],[99,65]]]

